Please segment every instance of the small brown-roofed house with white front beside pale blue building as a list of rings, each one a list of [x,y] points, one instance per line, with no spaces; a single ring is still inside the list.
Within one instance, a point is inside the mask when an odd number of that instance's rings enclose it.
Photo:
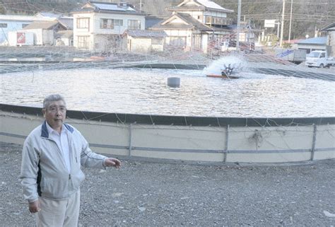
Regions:
[[[54,45],[54,35],[66,27],[59,21],[35,21],[22,31],[34,34],[34,45]]]

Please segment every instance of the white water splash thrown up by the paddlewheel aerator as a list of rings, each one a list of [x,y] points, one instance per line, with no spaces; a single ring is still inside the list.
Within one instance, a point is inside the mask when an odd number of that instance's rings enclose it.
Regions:
[[[244,66],[247,65],[247,62],[242,55],[228,55],[212,62],[204,69],[204,74],[221,75],[221,71],[229,65],[234,68],[235,71],[240,72]]]

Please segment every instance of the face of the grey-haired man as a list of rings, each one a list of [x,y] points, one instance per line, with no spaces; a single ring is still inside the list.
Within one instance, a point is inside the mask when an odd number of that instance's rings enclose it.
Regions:
[[[43,109],[43,116],[52,129],[60,129],[66,117],[66,106],[62,100],[52,102]]]

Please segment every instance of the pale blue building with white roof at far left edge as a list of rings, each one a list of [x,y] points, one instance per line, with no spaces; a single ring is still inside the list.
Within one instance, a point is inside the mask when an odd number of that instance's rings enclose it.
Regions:
[[[8,45],[8,33],[21,30],[34,21],[54,21],[56,18],[36,16],[0,15],[0,44]]]

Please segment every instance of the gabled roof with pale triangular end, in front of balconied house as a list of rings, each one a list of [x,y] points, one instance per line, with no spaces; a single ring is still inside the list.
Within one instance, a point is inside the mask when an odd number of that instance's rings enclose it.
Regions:
[[[184,21],[184,23],[170,23],[173,18],[179,18],[180,20]],[[196,29],[201,31],[212,31],[212,28],[200,23],[195,18],[190,16],[187,13],[174,13],[170,18],[163,21],[162,23],[158,23],[153,25],[152,29]]]

